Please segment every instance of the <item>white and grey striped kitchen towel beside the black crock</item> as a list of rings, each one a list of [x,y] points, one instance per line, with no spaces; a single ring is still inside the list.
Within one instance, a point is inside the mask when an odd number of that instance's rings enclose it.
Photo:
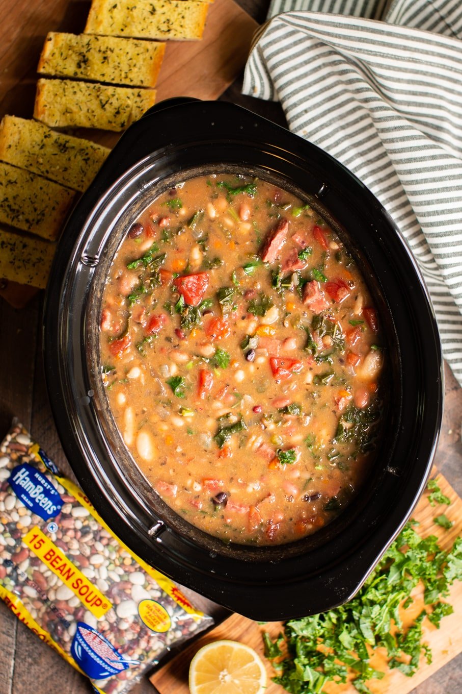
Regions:
[[[462,385],[461,0],[272,0],[269,17],[242,91],[280,101],[290,130],[379,198]]]

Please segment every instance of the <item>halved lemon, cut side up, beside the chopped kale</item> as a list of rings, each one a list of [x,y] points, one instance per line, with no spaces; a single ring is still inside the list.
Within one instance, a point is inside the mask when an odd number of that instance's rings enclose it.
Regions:
[[[189,666],[191,694],[263,694],[267,675],[256,652],[237,641],[212,641]]]

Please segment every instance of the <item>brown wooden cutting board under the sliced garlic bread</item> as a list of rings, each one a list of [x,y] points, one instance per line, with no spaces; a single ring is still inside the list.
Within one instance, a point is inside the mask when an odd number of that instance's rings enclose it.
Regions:
[[[31,118],[35,98],[35,69],[48,31],[81,33],[89,2],[46,0],[0,1],[0,119],[3,115]],[[233,0],[215,0],[208,9],[201,41],[167,42],[157,101],[172,96],[213,100],[236,80],[245,65],[251,37],[258,24]],[[76,129],[73,134],[113,147],[120,133]],[[19,308],[38,289],[9,282],[0,296]]]

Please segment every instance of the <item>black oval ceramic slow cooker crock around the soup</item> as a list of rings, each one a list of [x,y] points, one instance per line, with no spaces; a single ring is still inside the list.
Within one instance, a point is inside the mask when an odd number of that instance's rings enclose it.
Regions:
[[[118,244],[159,192],[212,171],[252,171],[318,206],[355,256],[387,336],[388,405],[373,472],[343,514],[290,545],[224,545],[179,518],[127,453],[101,384],[100,302]],[[166,101],[121,137],[57,248],[44,359],[62,446],[112,530],[175,581],[257,620],[313,614],[353,597],[414,509],[441,426],[438,332],[398,229],[339,162],[229,103]]]

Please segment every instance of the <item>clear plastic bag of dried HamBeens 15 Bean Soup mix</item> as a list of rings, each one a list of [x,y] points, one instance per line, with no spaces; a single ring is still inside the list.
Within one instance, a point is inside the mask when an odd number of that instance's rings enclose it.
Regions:
[[[212,623],[118,540],[15,422],[0,448],[0,598],[106,694],[130,691]]]

